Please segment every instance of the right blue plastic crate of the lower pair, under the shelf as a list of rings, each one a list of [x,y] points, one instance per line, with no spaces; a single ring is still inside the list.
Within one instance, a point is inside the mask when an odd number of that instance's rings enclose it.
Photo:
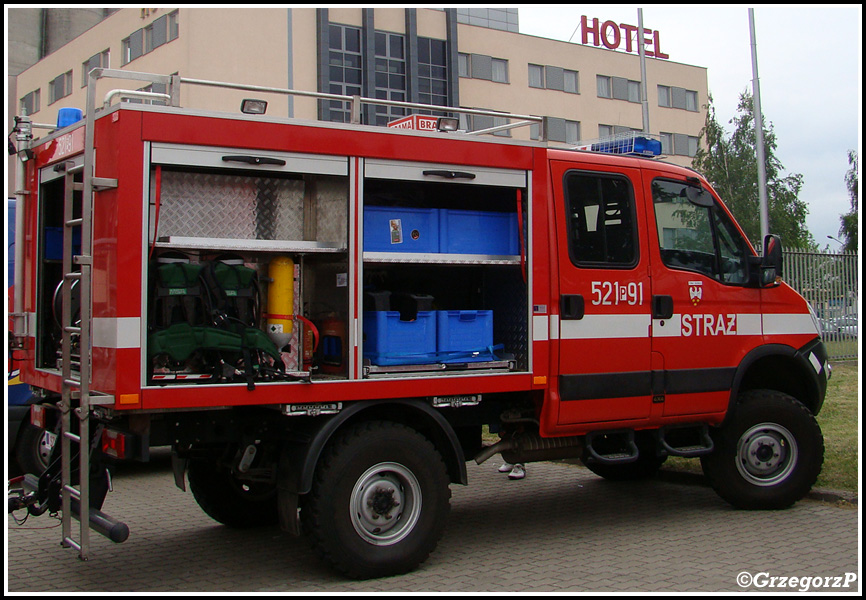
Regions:
[[[436,351],[445,363],[495,360],[493,311],[436,311]]]

